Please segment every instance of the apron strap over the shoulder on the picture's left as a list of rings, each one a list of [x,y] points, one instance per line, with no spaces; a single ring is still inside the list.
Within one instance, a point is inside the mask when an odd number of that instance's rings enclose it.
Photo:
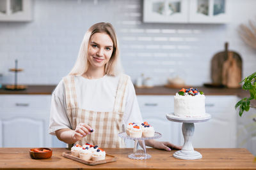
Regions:
[[[65,76],[63,81],[65,85],[67,110],[77,108],[76,85],[74,76]]]

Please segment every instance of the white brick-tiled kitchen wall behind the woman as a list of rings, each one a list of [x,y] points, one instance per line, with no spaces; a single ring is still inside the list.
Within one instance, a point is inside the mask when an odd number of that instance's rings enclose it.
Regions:
[[[224,49],[243,59],[243,76],[255,71],[256,50],[239,38],[239,24],[256,21],[256,1],[232,0],[230,24],[145,24],[141,0],[35,0],[33,22],[0,22],[0,83],[13,83],[14,60],[19,60],[19,83],[56,84],[76,61],[90,25],[111,22],[120,41],[125,73],[141,73],[157,85],[180,74],[188,85],[210,82],[211,58]],[[171,33],[164,33],[165,30]],[[150,41],[148,41],[148,39]]]

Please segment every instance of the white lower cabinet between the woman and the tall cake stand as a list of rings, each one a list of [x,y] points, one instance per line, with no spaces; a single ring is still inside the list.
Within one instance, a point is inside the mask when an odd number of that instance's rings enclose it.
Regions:
[[[167,113],[173,113],[173,96],[138,96],[138,103],[143,120],[162,134],[157,140],[181,145],[181,124],[166,118]]]

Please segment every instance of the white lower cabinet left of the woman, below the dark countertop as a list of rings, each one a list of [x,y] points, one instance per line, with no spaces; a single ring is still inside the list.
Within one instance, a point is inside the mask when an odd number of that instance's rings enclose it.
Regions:
[[[0,147],[63,147],[48,134],[51,95],[0,95]]]

